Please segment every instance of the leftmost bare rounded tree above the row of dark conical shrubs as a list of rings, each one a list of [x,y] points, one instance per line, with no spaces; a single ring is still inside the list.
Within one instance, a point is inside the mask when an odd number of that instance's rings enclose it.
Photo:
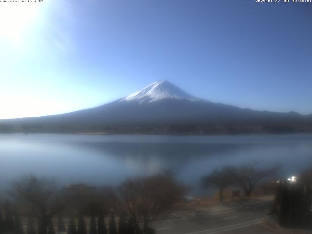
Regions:
[[[28,215],[37,218],[38,234],[46,234],[53,215],[62,211],[68,204],[65,194],[55,180],[38,178],[32,174],[13,182],[10,195]]]

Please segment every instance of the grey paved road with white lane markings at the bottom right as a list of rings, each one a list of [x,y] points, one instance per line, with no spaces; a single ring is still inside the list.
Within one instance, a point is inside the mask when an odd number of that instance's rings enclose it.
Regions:
[[[151,224],[156,234],[273,234],[261,223],[272,202],[223,205],[222,209],[197,210],[193,217],[181,217]]]

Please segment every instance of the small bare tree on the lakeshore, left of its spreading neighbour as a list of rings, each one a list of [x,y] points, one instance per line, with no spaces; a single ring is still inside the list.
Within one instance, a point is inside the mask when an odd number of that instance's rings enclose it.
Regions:
[[[204,188],[214,187],[219,190],[220,202],[223,202],[223,191],[234,183],[235,168],[224,166],[221,169],[215,169],[201,180]]]

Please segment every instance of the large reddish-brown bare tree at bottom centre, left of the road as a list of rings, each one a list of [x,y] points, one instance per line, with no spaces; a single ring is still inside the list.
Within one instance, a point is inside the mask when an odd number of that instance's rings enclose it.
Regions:
[[[140,233],[138,223],[148,223],[161,213],[181,202],[185,188],[173,176],[160,173],[153,176],[130,179],[124,182],[116,193],[115,204],[121,215],[128,217],[136,233]]]

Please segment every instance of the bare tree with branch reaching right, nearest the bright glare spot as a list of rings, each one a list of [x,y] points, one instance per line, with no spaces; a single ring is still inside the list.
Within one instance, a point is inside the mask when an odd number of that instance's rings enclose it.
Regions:
[[[257,162],[244,164],[237,168],[234,176],[235,183],[240,186],[247,197],[250,197],[255,186],[260,180],[267,176],[272,176],[277,172],[279,166],[259,167]]]

